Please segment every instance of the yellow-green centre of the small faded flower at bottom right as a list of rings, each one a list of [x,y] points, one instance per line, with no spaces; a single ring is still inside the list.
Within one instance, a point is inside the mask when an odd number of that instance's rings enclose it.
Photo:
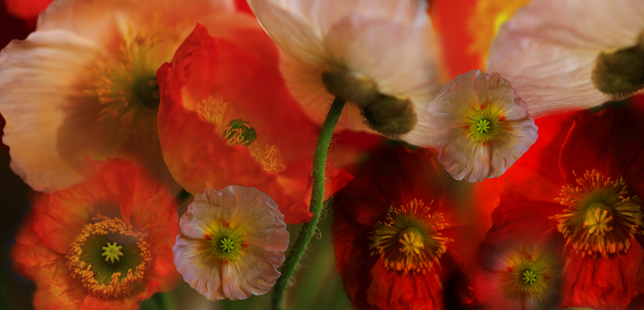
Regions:
[[[515,287],[527,296],[541,293],[550,284],[545,259],[528,255],[514,262],[510,269]]]

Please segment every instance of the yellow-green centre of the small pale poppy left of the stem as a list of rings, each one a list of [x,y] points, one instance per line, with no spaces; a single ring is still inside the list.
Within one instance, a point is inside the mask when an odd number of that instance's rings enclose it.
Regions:
[[[236,227],[226,225],[224,228],[214,228],[205,238],[210,242],[214,257],[223,262],[236,262],[247,251],[245,237],[241,229]]]

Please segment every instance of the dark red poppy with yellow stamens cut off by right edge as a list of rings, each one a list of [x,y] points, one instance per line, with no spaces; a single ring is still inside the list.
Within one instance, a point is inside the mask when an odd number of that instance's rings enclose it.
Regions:
[[[639,102],[543,117],[540,139],[506,172],[501,204],[520,200],[515,212],[547,218],[565,244],[564,307],[626,309],[641,290],[644,140],[632,133],[643,119]]]

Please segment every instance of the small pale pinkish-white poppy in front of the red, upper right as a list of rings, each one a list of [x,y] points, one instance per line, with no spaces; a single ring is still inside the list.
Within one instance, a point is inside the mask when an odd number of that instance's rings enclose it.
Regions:
[[[526,102],[498,73],[472,70],[447,84],[422,120],[426,142],[454,179],[502,175],[535,142]]]

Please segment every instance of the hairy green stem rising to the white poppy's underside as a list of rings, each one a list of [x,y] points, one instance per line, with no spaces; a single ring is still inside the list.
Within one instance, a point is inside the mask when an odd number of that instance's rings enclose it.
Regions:
[[[308,243],[316,231],[317,221],[322,211],[324,201],[324,183],[325,168],[327,166],[328,144],[331,142],[333,130],[336,128],[337,119],[339,119],[342,109],[345,107],[345,100],[336,97],[328,110],[327,118],[322,124],[322,130],[317,138],[316,151],[313,155],[313,189],[311,191],[310,211],[313,212],[313,218],[310,222],[302,226],[299,231],[298,240],[296,240],[289,256],[281,269],[281,276],[278,278],[273,291],[273,309],[284,309],[287,287],[290,278],[295,273],[304,252],[307,251]]]

